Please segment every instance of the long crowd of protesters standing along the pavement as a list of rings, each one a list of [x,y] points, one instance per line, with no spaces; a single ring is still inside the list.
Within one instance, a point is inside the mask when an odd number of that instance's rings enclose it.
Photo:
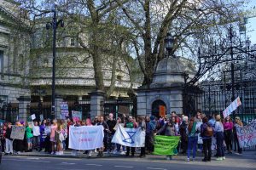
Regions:
[[[146,133],[145,147],[140,150],[140,157],[154,153],[154,135],[180,136],[180,143],[176,153],[187,155],[186,161],[195,161],[197,150],[201,150],[204,158],[202,161],[211,161],[212,149],[216,149],[218,161],[225,160],[226,153],[235,151],[241,153],[241,148],[236,135],[236,127],[242,127],[241,119],[236,116],[233,122],[230,116],[222,119],[219,114],[205,116],[201,111],[197,111],[195,117],[185,115],[178,116],[172,111],[170,117],[156,116],[119,116],[113,119],[113,114],[108,117],[96,116],[94,120],[87,118],[83,121],[75,121],[71,118],[66,120],[43,120],[42,122],[15,122],[15,126],[25,127],[24,139],[11,139],[12,123],[6,122],[1,125],[0,139],[2,152],[5,155],[20,154],[20,152],[31,152],[44,150],[52,155],[63,155],[63,150],[68,149],[68,133],[70,126],[102,126],[104,128],[103,147],[96,150],[84,150],[84,154],[91,156],[91,151],[96,151],[97,156],[103,156],[104,152],[122,154],[125,156],[135,156],[136,148],[125,147],[120,144],[113,144],[111,140],[117,129],[121,125],[127,128],[140,127]],[[216,148],[212,148],[212,138],[216,139]],[[202,142],[199,142],[202,140]],[[202,143],[202,144],[201,144]],[[214,144],[213,144],[214,145]],[[192,159],[190,152],[192,150]],[[77,150],[73,150],[73,156]],[[171,160],[172,156],[166,156]]]

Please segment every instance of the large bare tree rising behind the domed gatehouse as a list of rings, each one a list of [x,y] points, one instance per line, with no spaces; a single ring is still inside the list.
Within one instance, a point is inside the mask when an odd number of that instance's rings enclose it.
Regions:
[[[174,37],[171,54],[183,51],[195,54],[197,46],[207,46],[211,37],[223,37],[219,25],[237,18],[243,2],[236,0],[138,0],[123,4],[122,24],[131,28],[133,49],[144,75],[143,85],[149,86],[154,69],[165,57],[164,39],[167,32]],[[194,58],[195,59],[195,58]]]

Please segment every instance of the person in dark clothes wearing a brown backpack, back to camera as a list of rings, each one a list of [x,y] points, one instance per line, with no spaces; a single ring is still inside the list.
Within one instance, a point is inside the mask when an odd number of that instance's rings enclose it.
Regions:
[[[202,161],[211,161],[213,128],[210,127],[207,116],[205,116],[202,119],[202,123],[203,124],[201,124],[201,138],[203,140],[203,152],[204,152],[204,158],[202,159]]]

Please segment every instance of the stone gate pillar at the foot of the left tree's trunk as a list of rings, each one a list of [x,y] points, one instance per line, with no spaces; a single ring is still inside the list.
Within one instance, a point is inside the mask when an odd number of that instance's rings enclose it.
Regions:
[[[90,118],[102,116],[105,93],[101,90],[90,93]]]

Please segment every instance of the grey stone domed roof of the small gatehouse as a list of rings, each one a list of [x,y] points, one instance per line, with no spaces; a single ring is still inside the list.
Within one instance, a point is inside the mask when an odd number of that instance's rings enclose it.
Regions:
[[[160,60],[156,67],[155,73],[183,72],[183,64],[179,59],[169,57]]]

